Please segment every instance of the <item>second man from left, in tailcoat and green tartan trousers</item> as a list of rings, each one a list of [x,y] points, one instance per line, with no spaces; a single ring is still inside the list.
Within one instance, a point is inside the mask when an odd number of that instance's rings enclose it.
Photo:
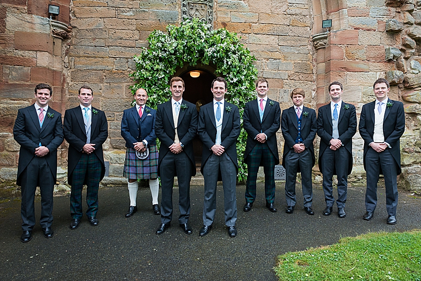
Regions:
[[[76,229],[82,218],[82,189],[86,189],[86,216],[92,226],[98,225],[98,189],[104,178],[103,143],[108,137],[105,113],[92,107],[94,91],[83,85],[77,96],[80,105],[64,113],[64,138],[69,143],[67,181],[71,185],[70,229]]]

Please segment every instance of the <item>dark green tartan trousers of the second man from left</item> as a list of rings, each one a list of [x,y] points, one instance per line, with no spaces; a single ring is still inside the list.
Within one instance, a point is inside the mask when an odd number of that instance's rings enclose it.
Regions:
[[[70,193],[70,214],[72,219],[82,218],[82,189],[86,177],[86,216],[96,217],[98,212],[98,189],[101,180],[101,161],[95,155],[82,154],[79,162],[72,172],[72,189]]]

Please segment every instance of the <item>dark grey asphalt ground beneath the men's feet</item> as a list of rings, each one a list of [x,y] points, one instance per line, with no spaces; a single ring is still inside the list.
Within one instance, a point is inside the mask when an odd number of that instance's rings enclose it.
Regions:
[[[304,212],[301,196],[294,214],[286,214],[283,186],[282,182],[277,183],[277,213],[265,208],[262,183],[258,185],[258,199],[252,211],[244,213],[245,186],[237,186],[235,238],[228,237],[223,224],[221,186],[214,228],[205,237],[199,237],[203,186],[191,189],[192,235],[185,235],[178,226],[178,210],[174,212],[173,225],[156,235],[160,220],[153,215],[150,191],[145,188],[138,194],[138,213],[129,219],[124,218],[129,206],[127,188],[101,189],[100,225],[93,227],[83,218],[76,230],[68,228],[69,196],[55,197],[53,238],[44,238],[41,227],[36,225],[32,240],[25,244],[19,240],[20,200],[0,203],[0,280],[275,281],[272,268],[279,254],[336,243],[341,237],[369,231],[421,228],[421,199],[414,199],[405,191],[400,192],[398,224],[386,225],[382,189],[374,218],[366,222],[362,219],[365,212],[362,188],[349,188],[348,216],[339,219],[336,213],[330,217],[321,215],[324,199],[320,187],[314,189],[315,216]],[[178,190],[174,199],[178,201]]]

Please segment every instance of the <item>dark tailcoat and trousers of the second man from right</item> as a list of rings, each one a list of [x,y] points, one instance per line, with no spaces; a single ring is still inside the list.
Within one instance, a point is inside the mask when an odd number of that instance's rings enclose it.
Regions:
[[[352,137],[357,132],[357,115],[355,106],[342,101],[338,118],[338,139],[342,146],[337,150],[330,149],[330,140],[333,138],[332,110],[330,103],[318,109],[317,135],[320,137],[318,168],[323,174],[323,191],[326,206],[335,203],[333,197],[332,176],[338,176],[338,208],[345,208],[347,198],[348,179],[352,171]]]

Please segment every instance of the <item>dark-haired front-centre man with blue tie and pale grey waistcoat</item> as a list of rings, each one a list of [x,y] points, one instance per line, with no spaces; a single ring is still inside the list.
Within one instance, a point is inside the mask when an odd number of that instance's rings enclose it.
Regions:
[[[199,231],[200,236],[205,236],[212,228],[219,174],[224,189],[225,225],[228,226],[230,237],[237,235],[235,184],[238,162],[235,143],[240,135],[240,112],[237,106],[224,100],[226,86],[224,78],[214,79],[211,86],[213,101],[201,107],[199,112],[198,135],[203,142],[201,172],[205,179],[203,227]]]

